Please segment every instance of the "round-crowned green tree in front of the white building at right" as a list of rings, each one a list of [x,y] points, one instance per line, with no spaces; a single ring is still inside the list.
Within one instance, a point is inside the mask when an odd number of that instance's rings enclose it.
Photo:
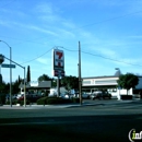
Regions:
[[[118,86],[127,90],[127,95],[128,95],[128,90],[130,90],[131,87],[134,88],[135,85],[138,85],[139,78],[132,73],[121,74],[117,83]]]

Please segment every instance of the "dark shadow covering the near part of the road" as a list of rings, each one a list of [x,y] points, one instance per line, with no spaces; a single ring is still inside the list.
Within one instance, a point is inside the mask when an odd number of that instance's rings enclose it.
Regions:
[[[72,116],[0,119],[3,142],[129,142],[142,130],[142,115]]]

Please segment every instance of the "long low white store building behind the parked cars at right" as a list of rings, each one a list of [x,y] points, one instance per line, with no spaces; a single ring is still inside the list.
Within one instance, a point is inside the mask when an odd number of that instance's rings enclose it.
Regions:
[[[93,93],[95,90],[107,90],[113,97],[120,98],[121,94],[127,94],[127,90],[118,87],[117,81],[119,80],[118,75],[110,76],[92,76],[82,79],[82,90],[87,93]],[[128,95],[139,94],[139,91],[142,90],[142,76],[139,76],[139,84],[135,88],[130,88]]]

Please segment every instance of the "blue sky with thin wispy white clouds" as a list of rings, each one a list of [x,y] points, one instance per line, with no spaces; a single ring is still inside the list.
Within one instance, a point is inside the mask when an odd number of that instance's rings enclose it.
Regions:
[[[27,69],[31,80],[54,78],[52,49],[64,52],[66,75],[142,75],[141,0],[0,0],[0,54]],[[7,44],[5,44],[7,43]],[[3,63],[9,64],[9,60]],[[9,68],[1,68],[10,81]],[[12,69],[12,81],[24,71]]]

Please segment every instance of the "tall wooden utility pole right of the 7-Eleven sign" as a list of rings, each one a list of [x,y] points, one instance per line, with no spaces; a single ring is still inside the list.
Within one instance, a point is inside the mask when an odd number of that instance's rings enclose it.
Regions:
[[[81,79],[81,45],[79,42],[79,96],[80,96],[80,105],[82,105],[82,79]]]

